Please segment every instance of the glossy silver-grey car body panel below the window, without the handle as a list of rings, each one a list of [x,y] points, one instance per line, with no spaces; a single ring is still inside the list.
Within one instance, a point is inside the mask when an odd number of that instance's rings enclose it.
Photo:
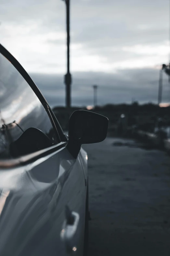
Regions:
[[[80,215],[76,255],[82,255],[85,179],[64,147],[26,166],[0,170],[0,255],[67,255],[60,238],[65,206]]]

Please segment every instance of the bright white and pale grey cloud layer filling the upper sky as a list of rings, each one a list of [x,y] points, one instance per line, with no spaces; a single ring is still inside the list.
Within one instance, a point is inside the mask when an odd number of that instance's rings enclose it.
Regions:
[[[25,69],[64,74],[64,1],[0,0],[0,5],[1,43]],[[168,16],[167,0],[154,5],[146,0],[72,0],[71,71],[113,72],[167,62]]]

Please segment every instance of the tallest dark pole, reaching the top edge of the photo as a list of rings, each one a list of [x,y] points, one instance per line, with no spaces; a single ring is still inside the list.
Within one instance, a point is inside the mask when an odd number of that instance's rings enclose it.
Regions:
[[[70,74],[70,0],[62,0],[66,3],[66,25],[67,25],[67,74],[64,76],[66,85],[66,107],[71,106],[71,83],[72,77]]]

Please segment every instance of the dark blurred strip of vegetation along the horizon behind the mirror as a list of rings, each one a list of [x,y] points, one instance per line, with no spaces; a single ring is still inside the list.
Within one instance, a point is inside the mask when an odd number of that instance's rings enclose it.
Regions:
[[[63,130],[67,130],[69,116],[73,111],[80,109],[87,110],[86,107],[72,107],[70,110],[65,107],[55,107],[53,111]],[[137,102],[133,104],[107,104],[97,106],[91,111],[107,116],[109,118],[109,130],[112,131],[117,128],[121,114],[125,116],[127,129],[136,126],[138,129],[153,132],[158,118],[162,119],[162,125],[170,126],[170,107],[160,108],[153,103],[143,105],[139,105]]]

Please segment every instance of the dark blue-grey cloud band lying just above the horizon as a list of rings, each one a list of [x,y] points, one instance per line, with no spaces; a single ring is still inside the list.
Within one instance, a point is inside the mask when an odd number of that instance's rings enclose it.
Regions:
[[[65,85],[61,75],[30,74],[51,107],[65,105]],[[72,105],[93,105],[93,84],[98,84],[98,104],[154,102],[158,98],[158,69],[118,70],[114,74],[75,72],[72,83]],[[163,102],[169,102],[170,85],[163,76]]]

